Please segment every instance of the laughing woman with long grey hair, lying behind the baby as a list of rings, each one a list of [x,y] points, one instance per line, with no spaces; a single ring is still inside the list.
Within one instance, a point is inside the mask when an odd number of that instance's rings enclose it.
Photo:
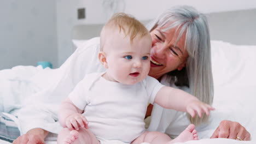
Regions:
[[[149,30],[153,41],[149,75],[164,85],[187,88],[200,100],[212,104],[211,49],[206,17],[191,7],[173,8],[165,11],[153,21]],[[89,40],[56,70],[59,73],[53,85],[36,97],[37,101],[48,105],[27,106],[21,110],[19,119],[22,124],[26,125],[21,127],[21,131],[26,134],[18,137],[14,143],[43,143],[49,131],[59,132],[56,130],[59,125],[54,125],[57,123],[56,107],[58,105],[56,104],[60,104],[61,99],[67,97],[73,87],[83,79],[84,74],[104,70],[97,61],[99,43],[98,38]],[[197,125],[207,122],[207,117],[191,118],[188,116],[187,118],[175,111],[162,112],[164,114],[161,115],[159,111],[165,110],[154,106],[149,130],[164,131],[173,137],[189,121]],[[168,117],[165,113],[172,117]],[[184,125],[176,123],[178,118],[185,122]],[[28,121],[28,119],[33,119],[33,121]],[[162,125],[163,119],[170,122]],[[171,122],[175,123],[171,124]],[[173,133],[173,131],[177,132]],[[211,137],[249,140],[250,134],[237,122],[222,121]]]

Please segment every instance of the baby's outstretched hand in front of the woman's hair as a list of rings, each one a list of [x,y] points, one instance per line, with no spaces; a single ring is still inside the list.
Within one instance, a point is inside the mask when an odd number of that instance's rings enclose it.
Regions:
[[[210,115],[210,110],[215,110],[211,105],[205,104],[200,100],[191,100],[186,107],[187,112],[191,117],[195,117],[196,113],[199,117],[202,117],[203,113],[206,113],[207,116]]]

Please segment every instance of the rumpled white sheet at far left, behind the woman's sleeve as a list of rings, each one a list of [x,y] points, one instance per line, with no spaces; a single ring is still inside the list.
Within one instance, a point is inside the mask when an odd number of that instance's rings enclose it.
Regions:
[[[0,112],[15,115],[33,94],[49,86],[56,72],[40,65],[0,70]]]

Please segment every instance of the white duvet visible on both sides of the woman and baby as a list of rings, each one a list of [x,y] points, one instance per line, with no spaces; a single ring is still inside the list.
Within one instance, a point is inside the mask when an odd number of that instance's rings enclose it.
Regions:
[[[209,137],[223,119],[241,123],[251,133],[252,141],[201,139],[193,143],[256,143],[256,46],[238,46],[211,41],[214,102],[211,123],[200,137]],[[51,73],[51,75],[49,75]],[[30,95],[48,86],[54,76],[51,69],[18,66],[0,71],[0,111],[11,112],[22,106]],[[46,80],[45,80],[46,79]],[[44,80],[45,82],[42,82]],[[15,115],[15,111],[13,111]],[[8,143],[0,141],[0,143]],[[56,143],[48,141],[46,143]]]

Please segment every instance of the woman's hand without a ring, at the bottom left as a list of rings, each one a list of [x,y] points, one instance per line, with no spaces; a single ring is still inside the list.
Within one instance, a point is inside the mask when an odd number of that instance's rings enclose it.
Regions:
[[[44,138],[48,135],[48,131],[34,128],[27,131],[27,134],[19,136],[13,141],[14,144],[44,144]]]

